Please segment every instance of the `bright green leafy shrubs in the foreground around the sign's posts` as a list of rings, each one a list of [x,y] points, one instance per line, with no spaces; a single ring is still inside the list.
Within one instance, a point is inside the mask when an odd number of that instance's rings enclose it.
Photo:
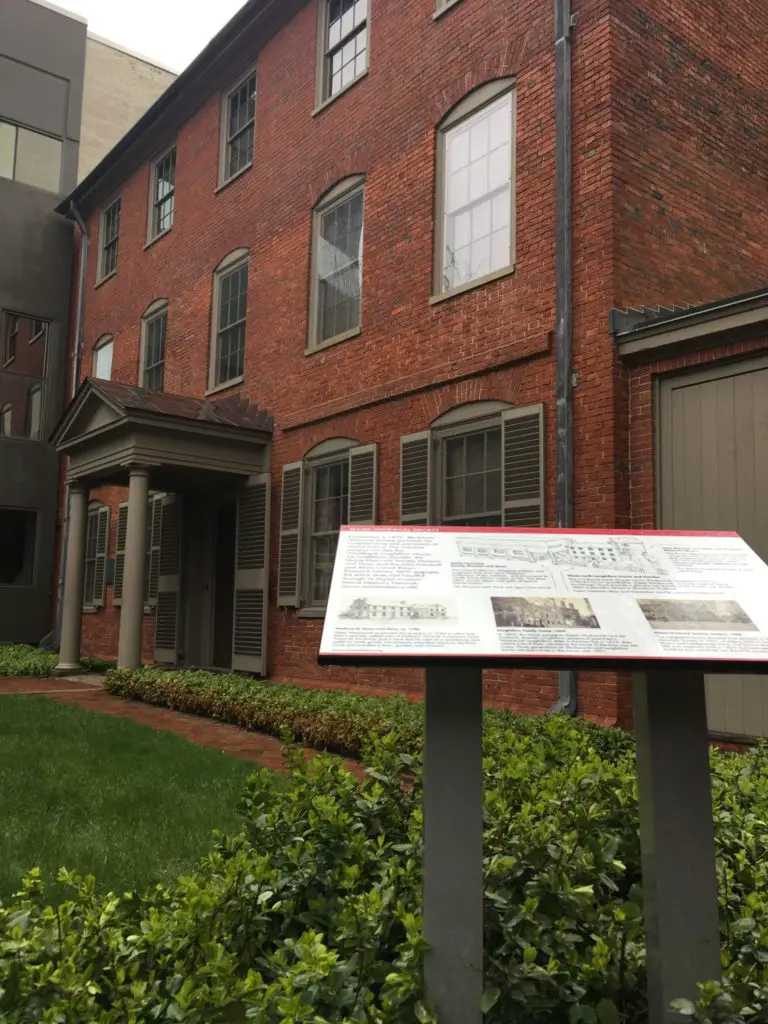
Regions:
[[[630,737],[490,716],[485,765],[488,1024],[640,1024],[644,935]],[[104,895],[63,874],[0,908],[0,1019],[422,1024],[421,761],[377,741],[251,779],[244,829],[189,878]],[[768,1013],[768,759],[712,756],[726,989],[699,1021]],[[403,786],[403,775],[414,784]],[[744,1007],[751,1008],[750,1014]]]

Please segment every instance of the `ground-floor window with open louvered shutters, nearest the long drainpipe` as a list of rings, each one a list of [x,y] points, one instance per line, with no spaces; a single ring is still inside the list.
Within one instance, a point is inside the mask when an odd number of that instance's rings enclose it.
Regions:
[[[400,522],[544,525],[544,411],[461,406],[400,439]]]

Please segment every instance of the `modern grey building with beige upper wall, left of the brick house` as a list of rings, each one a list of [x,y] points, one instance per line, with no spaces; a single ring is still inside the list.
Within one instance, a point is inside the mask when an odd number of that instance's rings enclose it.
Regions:
[[[173,77],[89,40],[84,18],[52,4],[0,3],[0,642],[39,641],[55,603],[60,474],[47,439],[71,393],[75,245],[54,208]]]

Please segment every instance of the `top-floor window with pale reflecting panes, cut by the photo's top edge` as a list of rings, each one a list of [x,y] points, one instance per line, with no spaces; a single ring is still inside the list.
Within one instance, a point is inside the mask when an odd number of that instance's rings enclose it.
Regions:
[[[368,68],[369,0],[322,0],[317,102],[351,85]]]

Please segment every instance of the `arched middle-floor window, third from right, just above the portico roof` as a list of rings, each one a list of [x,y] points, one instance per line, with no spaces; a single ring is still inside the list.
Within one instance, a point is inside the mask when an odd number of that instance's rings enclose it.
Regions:
[[[239,249],[224,257],[214,274],[212,387],[243,377],[247,305],[248,250]]]

